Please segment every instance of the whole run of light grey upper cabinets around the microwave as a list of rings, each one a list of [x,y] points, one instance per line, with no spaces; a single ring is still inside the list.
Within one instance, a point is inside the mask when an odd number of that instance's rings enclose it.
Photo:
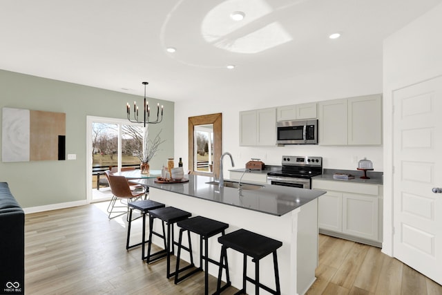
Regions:
[[[240,112],[240,146],[276,146],[276,122],[318,118],[318,144],[382,144],[382,95]]]

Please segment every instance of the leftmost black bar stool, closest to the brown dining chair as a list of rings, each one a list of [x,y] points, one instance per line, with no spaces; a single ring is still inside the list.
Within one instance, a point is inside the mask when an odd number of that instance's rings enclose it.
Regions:
[[[129,221],[128,221],[128,226],[127,226],[126,250],[142,245],[141,258],[142,258],[142,260],[144,260],[146,258],[146,256],[144,256],[145,244],[146,244],[146,242],[148,242],[148,241],[146,241],[146,214],[148,214],[148,211],[151,211],[153,209],[166,207],[166,205],[162,204],[160,202],[155,202],[153,200],[141,200],[141,201],[130,202],[128,204],[128,206],[129,206]],[[133,221],[132,220],[133,209],[140,210],[142,213],[142,218],[143,218],[142,242],[139,242],[134,245],[129,245],[129,239],[131,238],[131,224]],[[135,218],[134,220],[136,220],[138,218]]]

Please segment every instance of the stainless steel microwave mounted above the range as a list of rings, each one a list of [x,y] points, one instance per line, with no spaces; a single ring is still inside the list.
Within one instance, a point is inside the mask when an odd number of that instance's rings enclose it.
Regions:
[[[318,120],[276,123],[277,144],[318,144]]]

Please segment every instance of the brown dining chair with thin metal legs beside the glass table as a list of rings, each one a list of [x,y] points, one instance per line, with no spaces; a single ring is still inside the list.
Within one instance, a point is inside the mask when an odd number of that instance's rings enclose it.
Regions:
[[[129,186],[128,181],[124,176],[113,175],[111,171],[105,171],[108,180],[109,186],[111,187],[111,192],[113,197],[111,202],[108,205],[108,218],[113,219],[118,216],[122,216],[127,214],[129,211],[128,202],[137,200],[142,198],[145,191],[131,191],[131,187]],[[115,203],[119,200],[123,204],[123,206],[116,206]],[[115,211],[116,208],[125,208],[124,211]],[[113,215],[113,214],[117,215]],[[126,220],[128,217],[126,218]]]

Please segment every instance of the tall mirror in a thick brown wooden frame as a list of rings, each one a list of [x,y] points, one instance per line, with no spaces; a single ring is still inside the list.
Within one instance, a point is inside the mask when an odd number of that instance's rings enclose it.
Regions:
[[[189,117],[189,171],[219,177],[222,113]]]

